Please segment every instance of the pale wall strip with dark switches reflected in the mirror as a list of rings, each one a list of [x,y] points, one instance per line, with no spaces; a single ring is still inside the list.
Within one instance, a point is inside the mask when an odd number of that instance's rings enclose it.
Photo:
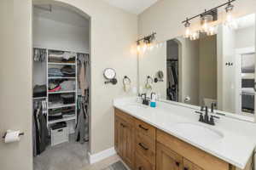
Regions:
[[[235,43],[236,34],[228,26],[219,26],[218,43],[218,110],[235,112]]]

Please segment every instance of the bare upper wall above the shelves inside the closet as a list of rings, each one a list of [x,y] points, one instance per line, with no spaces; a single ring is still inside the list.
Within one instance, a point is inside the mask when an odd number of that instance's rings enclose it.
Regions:
[[[90,27],[69,25],[58,20],[33,18],[33,46],[90,53]]]

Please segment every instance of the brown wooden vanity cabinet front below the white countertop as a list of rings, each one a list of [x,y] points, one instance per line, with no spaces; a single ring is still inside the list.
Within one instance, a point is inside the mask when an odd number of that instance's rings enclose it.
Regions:
[[[114,112],[114,147],[131,170],[236,170],[123,111]]]

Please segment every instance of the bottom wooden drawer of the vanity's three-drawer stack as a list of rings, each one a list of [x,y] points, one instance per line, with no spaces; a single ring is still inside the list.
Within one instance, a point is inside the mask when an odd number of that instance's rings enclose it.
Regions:
[[[142,155],[136,154],[135,170],[155,170],[155,167]]]

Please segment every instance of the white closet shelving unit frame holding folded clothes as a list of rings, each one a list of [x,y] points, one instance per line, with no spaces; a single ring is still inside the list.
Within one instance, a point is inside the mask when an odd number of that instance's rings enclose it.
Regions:
[[[53,123],[56,123],[56,122],[67,122],[67,121],[75,121],[75,123],[77,123],[77,107],[76,107],[76,104],[77,104],[77,99],[78,99],[78,80],[77,80],[77,58],[78,56],[76,55],[75,57],[75,62],[74,63],[64,63],[64,62],[49,62],[49,51],[62,51],[62,52],[66,52],[66,51],[63,51],[63,50],[55,50],[55,49],[47,49],[47,59],[46,59],[46,75],[47,75],[47,82],[46,82],[46,87],[47,87],[47,108],[48,108],[48,111],[47,111],[47,125],[48,127],[53,124]],[[70,52],[70,51],[68,51]],[[54,66],[54,65],[58,65],[58,66],[65,66],[65,65],[72,65],[74,66],[75,68],[75,77],[49,77],[49,66]],[[58,80],[58,79],[69,79],[69,80],[73,80],[75,81],[75,89],[74,90],[71,90],[71,91],[57,91],[57,92],[49,92],[49,80]],[[68,105],[49,105],[49,98],[50,98],[50,95],[53,95],[53,94],[74,94],[74,103],[73,104],[68,104]],[[74,116],[71,116],[71,117],[63,117],[61,119],[57,119],[57,120],[53,120],[53,121],[49,121],[49,110],[50,109],[59,109],[59,108],[66,108],[66,107],[75,107],[75,115]]]

